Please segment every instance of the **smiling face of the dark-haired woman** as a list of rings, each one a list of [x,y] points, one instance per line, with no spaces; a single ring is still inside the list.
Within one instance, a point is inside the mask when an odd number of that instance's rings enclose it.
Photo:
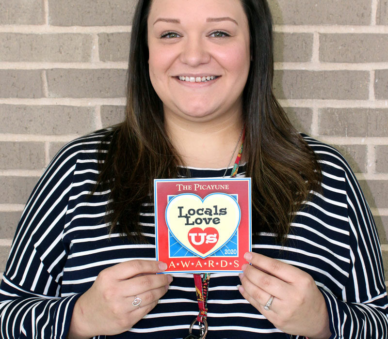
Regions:
[[[250,45],[240,0],[153,0],[147,25],[149,76],[166,117],[241,114]]]

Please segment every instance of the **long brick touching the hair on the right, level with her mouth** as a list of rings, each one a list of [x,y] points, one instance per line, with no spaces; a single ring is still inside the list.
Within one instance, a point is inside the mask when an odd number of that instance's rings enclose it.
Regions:
[[[279,99],[368,99],[369,72],[278,70],[274,91]]]

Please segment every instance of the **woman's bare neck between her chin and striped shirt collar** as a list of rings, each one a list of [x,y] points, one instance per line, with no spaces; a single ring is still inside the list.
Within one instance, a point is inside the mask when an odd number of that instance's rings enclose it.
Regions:
[[[242,116],[220,122],[181,123],[165,120],[171,142],[185,166],[196,168],[225,168],[229,163],[242,131]],[[238,154],[240,139],[234,158]],[[234,160],[231,161],[233,166]]]

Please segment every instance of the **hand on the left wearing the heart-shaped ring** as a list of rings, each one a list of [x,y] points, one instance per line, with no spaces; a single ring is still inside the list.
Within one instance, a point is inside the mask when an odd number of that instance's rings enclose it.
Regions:
[[[77,300],[68,339],[116,335],[129,330],[167,292],[171,275],[164,262],[131,260],[101,271],[89,290]],[[135,296],[142,301],[133,306]]]

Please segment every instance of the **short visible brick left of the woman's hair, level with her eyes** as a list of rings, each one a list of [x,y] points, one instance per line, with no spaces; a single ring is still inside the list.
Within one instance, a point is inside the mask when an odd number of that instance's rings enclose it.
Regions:
[[[98,34],[98,49],[100,61],[129,60],[129,33]]]

